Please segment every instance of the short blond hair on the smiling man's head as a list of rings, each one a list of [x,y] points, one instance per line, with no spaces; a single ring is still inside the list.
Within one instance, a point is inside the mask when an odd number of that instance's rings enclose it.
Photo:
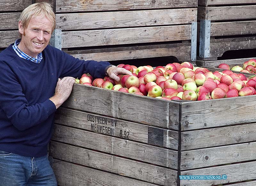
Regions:
[[[42,17],[45,16],[47,19],[49,19],[53,23],[52,24],[52,33],[53,33],[56,25],[56,20],[55,20],[55,14],[52,10],[51,4],[45,3],[45,2],[35,3],[25,8],[21,12],[20,20],[19,20],[21,21],[24,29],[28,27],[28,23],[33,16],[42,16]],[[20,37],[21,37],[21,34],[20,34]]]

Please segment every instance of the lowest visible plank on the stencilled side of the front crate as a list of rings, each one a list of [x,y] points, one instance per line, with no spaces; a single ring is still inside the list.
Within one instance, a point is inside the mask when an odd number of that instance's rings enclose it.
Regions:
[[[60,186],[157,186],[153,183],[55,159],[53,160],[53,171]]]

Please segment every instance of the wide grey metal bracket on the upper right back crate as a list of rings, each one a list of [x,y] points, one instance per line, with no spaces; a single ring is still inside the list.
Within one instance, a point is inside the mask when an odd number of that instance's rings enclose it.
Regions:
[[[200,20],[199,56],[210,57],[211,20]]]

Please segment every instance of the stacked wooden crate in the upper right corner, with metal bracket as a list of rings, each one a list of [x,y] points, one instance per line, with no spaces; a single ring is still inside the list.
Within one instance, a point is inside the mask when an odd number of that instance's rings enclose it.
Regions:
[[[198,0],[199,59],[217,60],[228,50],[256,48],[255,0]]]

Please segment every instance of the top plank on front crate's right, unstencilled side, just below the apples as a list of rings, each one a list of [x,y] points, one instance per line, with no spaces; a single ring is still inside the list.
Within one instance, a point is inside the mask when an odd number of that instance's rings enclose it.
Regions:
[[[180,104],[181,131],[256,122],[255,95]]]

